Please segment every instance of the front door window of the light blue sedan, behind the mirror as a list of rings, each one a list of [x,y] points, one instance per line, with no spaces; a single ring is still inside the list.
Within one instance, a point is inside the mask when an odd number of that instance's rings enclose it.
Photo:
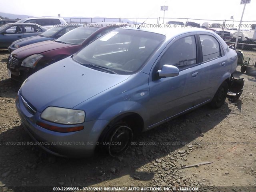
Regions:
[[[160,60],[160,66],[173,65],[180,70],[196,64],[196,40],[195,36],[187,36],[175,41],[166,50]]]

